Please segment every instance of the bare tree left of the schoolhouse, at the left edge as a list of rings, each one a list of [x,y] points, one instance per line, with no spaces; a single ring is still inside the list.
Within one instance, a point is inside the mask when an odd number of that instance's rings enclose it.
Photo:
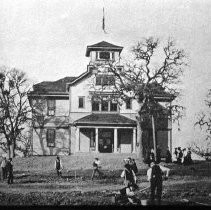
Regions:
[[[15,156],[17,140],[30,117],[28,92],[24,72],[0,68],[0,133],[6,139],[1,145],[8,150],[9,157]]]

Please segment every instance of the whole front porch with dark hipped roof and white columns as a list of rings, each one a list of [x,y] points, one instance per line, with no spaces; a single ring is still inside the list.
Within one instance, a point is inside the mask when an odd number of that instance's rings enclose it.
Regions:
[[[74,153],[136,153],[134,120],[120,114],[91,114],[74,125]]]

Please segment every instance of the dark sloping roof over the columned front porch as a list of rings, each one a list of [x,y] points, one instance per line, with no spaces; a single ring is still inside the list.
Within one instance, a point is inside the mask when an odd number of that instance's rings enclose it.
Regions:
[[[90,114],[74,122],[76,125],[136,126],[136,121],[120,114]]]

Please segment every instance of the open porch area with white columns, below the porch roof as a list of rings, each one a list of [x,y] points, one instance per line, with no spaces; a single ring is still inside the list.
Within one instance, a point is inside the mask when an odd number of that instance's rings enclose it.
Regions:
[[[136,153],[136,128],[78,126],[75,152]]]

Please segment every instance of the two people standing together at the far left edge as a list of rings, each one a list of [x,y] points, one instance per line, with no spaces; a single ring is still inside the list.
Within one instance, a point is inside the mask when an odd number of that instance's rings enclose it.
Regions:
[[[2,170],[2,180],[7,179],[8,184],[13,184],[13,162],[12,158],[8,160],[6,157],[3,157],[1,161],[1,170]]]

